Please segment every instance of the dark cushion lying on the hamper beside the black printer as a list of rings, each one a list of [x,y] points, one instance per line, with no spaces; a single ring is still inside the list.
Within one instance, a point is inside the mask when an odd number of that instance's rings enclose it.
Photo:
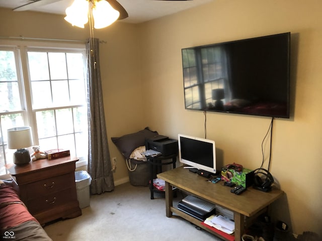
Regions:
[[[139,132],[127,134],[122,137],[112,137],[111,139],[123,156],[126,159],[129,159],[135,148],[145,146],[146,138],[151,138],[157,135],[158,133],[156,131],[152,132],[148,127],[146,127]]]

